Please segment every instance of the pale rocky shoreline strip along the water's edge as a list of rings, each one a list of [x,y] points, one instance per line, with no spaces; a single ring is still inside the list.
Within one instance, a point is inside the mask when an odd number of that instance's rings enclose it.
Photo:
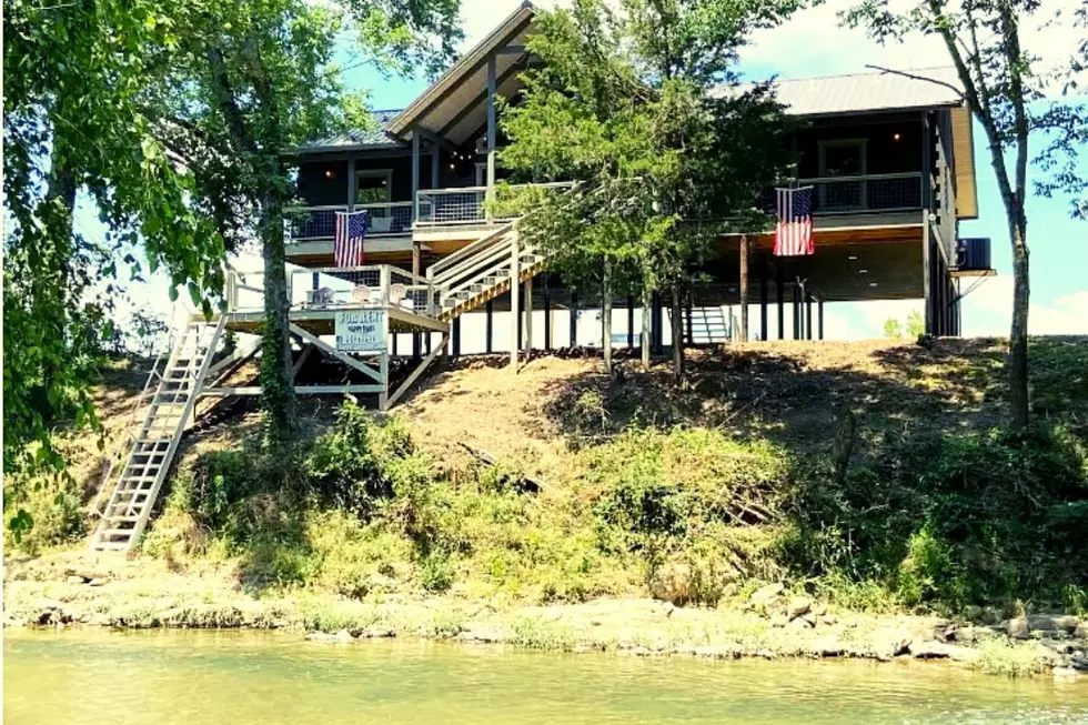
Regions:
[[[1009,676],[1050,674],[1088,686],[1088,621],[1070,615],[998,621],[984,613],[985,622],[968,623],[852,613],[780,584],[713,610],[652,598],[526,606],[466,593],[390,592],[356,601],[246,592],[226,563],[184,572],[155,561],[103,565],[78,556],[6,564],[8,627],[289,630],[329,644],[422,637],[647,657],[937,661]]]

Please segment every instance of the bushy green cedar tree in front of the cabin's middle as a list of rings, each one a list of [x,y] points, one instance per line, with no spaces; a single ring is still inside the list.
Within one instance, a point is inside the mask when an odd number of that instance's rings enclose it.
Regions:
[[[606,298],[667,293],[677,379],[697,262],[724,231],[763,228],[759,194],[789,161],[769,87],[738,85],[737,49],[797,7],[577,0],[538,16],[528,47],[543,62],[504,109],[502,158],[515,179],[580,182],[531,199],[537,213],[521,233],[573,281],[604,284]]]

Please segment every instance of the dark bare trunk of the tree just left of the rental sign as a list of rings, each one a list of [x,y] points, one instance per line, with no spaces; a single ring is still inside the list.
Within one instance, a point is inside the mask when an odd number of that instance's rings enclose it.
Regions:
[[[299,424],[288,330],[291,301],[283,249],[283,201],[271,184],[261,193],[258,233],[264,255],[264,340],[261,348],[264,447],[278,451],[294,440]]]

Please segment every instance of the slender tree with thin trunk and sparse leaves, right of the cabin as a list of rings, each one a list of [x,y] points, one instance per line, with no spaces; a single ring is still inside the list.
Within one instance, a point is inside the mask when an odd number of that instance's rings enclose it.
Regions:
[[[1044,191],[1077,193],[1085,189],[1084,179],[1075,172],[1076,154],[1086,137],[1085,108],[1047,102],[1044,92],[1052,79],[1037,72],[1038,58],[1021,44],[1021,23],[1039,22],[1047,4],[1040,0],[919,0],[900,6],[890,0],[864,0],[843,16],[845,22],[867,28],[882,42],[919,32],[940,38],[956,67],[964,95],[983,127],[1013,248],[1008,380],[1015,429],[1027,425],[1029,410],[1030,284],[1025,201],[1032,132],[1056,132],[1041,159],[1056,172],[1044,182]],[[1077,18],[1085,22],[1082,9]],[[1069,73],[1082,72],[1084,58],[1075,58]],[[1062,164],[1059,158],[1071,158],[1071,165]]]

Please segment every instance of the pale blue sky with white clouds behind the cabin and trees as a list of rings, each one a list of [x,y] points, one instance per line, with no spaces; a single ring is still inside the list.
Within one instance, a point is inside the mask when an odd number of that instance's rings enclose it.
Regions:
[[[1076,0],[1062,0],[1074,7]],[[495,23],[513,11],[520,0],[462,0],[465,29],[464,49],[471,48]],[[538,4],[550,4],[541,2]],[[836,13],[848,3],[828,0],[798,13],[784,27],[762,31],[742,53],[743,72],[753,79],[777,74],[804,78],[864,72],[866,63],[897,69],[921,69],[948,64],[944,47],[933,38],[916,38],[880,47],[860,31],[838,26]],[[1025,23],[1025,44],[1044,62],[1069,58],[1076,34],[1061,27],[1036,30]],[[353,89],[367,89],[372,108],[403,108],[425,87],[424,79],[385,79],[366,67],[346,73]],[[1011,252],[1005,213],[997,190],[989,153],[979,129],[975,133],[975,163],[978,179],[979,218],[960,225],[963,236],[989,236],[998,271],[964,300],[965,335],[1004,335],[1011,310]],[[1084,173],[1088,175],[1088,168]],[[1031,321],[1035,334],[1088,334],[1088,222],[1069,218],[1066,199],[1035,197],[1028,201],[1028,239],[1031,249]],[[91,210],[79,215],[88,230],[97,226]],[[133,290],[135,303],[169,311],[165,283],[161,279]],[[966,289],[966,285],[965,285]],[[829,338],[878,338],[889,316],[905,319],[920,310],[920,301],[850,303],[828,305],[826,333]]]

